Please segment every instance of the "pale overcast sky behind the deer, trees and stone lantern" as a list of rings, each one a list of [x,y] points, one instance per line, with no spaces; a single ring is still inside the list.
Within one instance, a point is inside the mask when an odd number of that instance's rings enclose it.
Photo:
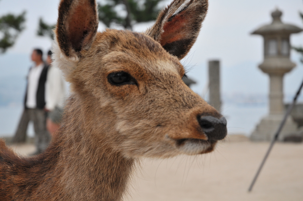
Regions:
[[[35,47],[44,51],[50,48],[50,39],[36,36],[38,19],[42,17],[47,23],[54,24],[58,13],[59,0],[0,0],[0,16],[9,12],[19,14],[26,11],[26,29],[19,36],[15,46],[6,55],[30,55]],[[166,1],[170,2],[170,1]],[[164,3],[166,4],[166,3]],[[163,5],[164,5],[163,4]],[[303,27],[298,12],[303,12],[302,0],[209,0],[209,12],[197,42],[188,56],[183,60],[185,66],[191,67],[189,75],[198,82],[193,90],[202,94],[207,83],[207,62],[220,59],[222,66],[223,93],[266,93],[268,78],[258,70],[263,61],[263,39],[250,33],[261,25],[271,23],[270,13],[279,8],[282,21]],[[144,31],[151,23],[135,26],[135,30]],[[103,25],[99,30],[104,29]],[[303,46],[303,34],[291,36],[294,46]],[[299,55],[292,51],[292,60],[298,62]],[[27,61],[23,61],[28,68]],[[0,69],[7,68],[0,63]],[[25,71],[26,72],[26,71]],[[285,91],[293,93],[303,78],[303,67],[298,65],[286,76]]]

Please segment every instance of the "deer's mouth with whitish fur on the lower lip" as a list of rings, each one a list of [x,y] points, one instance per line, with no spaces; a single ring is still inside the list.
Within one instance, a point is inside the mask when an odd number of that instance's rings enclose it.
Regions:
[[[209,153],[214,150],[217,140],[201,140],[195,138],[183,138],[175,140],[175,145],[182,153],[195,155]]]

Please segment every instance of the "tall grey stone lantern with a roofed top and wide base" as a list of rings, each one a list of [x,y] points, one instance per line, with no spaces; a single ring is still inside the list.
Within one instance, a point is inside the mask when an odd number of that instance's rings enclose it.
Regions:
[[[264,37],[264,61],[259,68],[269,75],[269,115],[264,117],[251,134],[251,140],[271,140],[284,116],[283,76],[296,64],[290,61],[290,40],[293,33],[301,32],[297,26],[281,21],[282,12],[276,9],[271,13],[273,21],[269,25],[258,28],[252,34]],[[295,133],[297,125],[289,117],[285,123],[279,140]]]

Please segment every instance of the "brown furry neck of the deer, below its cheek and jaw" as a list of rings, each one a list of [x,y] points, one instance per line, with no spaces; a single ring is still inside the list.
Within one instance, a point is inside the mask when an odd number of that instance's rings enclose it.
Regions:
[[[95,126],[89,122],[89,118],[94,117],[85,117],[83,114],[93,111],[78,107],[80,105],[75,105],[77,101],[71,102],[69,105],[73,106],[67,110],[79,115],[71,120],[66,114],[65,124],[57,135],[62,135],[62,139],[58,137],[58,140],[65,142],[62,143],[64,147],[58,163],[61,164],[62,187],[68,188],[75,200],[121,200],[133,170],[134,159],[124,157],[113,150],[107,143],[108,139],[100,138],[108,136],[104,130],[94,133]]]

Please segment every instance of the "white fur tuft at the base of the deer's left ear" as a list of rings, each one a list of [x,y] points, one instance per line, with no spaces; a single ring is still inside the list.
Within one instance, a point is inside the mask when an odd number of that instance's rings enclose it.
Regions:
[[[52,43],[52,64],[60,68],[66,81],[69,81],[68,77],[72,71],[77,67],[79,58],[76,54],[67,57],[60,49],[57,40]]]

